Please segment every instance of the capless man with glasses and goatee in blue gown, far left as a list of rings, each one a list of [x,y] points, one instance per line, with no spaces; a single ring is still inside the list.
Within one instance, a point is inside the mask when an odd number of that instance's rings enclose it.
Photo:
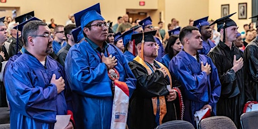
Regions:
[[[56,115],[72,110],[63,68],[48,56],[53,52],[50,33],[41,21],[30,21],[23,28],[25,52],[5,74],[11,128],[53,128]],[[67,128],[73,128],[72,122]]]

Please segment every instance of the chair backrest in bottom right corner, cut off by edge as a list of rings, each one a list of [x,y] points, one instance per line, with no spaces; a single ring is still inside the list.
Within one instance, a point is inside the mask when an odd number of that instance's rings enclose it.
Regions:
[[[250,111],[241,115],[241,125],[243,129],[257,128],[258,111]]]

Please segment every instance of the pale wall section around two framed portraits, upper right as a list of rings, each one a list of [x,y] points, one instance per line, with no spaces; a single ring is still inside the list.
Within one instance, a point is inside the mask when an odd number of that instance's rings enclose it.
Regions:
[[[238,3],[247,3],[247,19],[238,19]],[[242,32],[243,25],[249,24],[251,19],[248,19],[252,15],[251,0],[209,0],[209,18],[214,20],[221,18],[221,5],[229,4],[229,14],[237,12],[235,15],[230,17],[239,26],[238,31]]]

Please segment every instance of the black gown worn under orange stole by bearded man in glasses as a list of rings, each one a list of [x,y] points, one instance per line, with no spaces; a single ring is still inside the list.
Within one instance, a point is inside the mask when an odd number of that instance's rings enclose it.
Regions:
[[[148,75],[147,70],[139,62],[133,60],[128,63],[133,74],[137,79],[136,90],[130,98],[130,106],[128,113],[128,127],[135,128],[155,128],[155,115],[153,113],[152,97],[166,96],[169,94],[166,85],[169,85],[169,80],[163,78],[163,73],[156,70],[155,73]],[[154,66],[158,68],[157,64]],[[162,123],[180,119],[179,116],[179,99],[172,102],[166,101],[167,113],[165,114]]]

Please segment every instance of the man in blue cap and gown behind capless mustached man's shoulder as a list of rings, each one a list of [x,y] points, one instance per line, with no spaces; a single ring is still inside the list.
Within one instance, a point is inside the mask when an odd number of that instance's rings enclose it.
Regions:
[[[207,21],[209,17],[201,18],[193,22],[193,26],[196,26],[203,39],[203,48],[198,50],[200,54],[208,54],[210,50],[215,47],[215,43],[212,42],[210,37],[212,36],[212,29],[209,26],[210,23]]]

